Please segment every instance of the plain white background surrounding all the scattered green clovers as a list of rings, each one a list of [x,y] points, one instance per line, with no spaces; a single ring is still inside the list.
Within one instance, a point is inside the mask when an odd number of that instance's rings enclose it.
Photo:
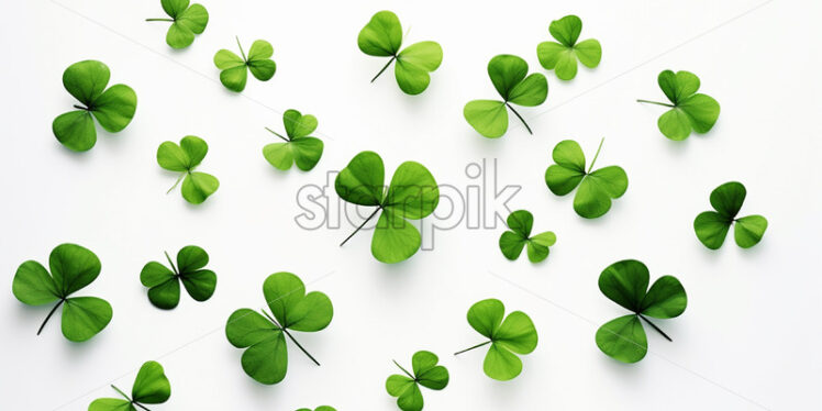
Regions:
[[[203,0],[208,29],[176,52],[165,44],[167,24],[143,21],[165,16],[159,1],[55,1],[0,5],[0,408],[85,410],[115,396],[111,382],[127,390],[140,365],[156,359],[173,386],[156,410],[392,410],[384,388],[398,371],[391,359],[408,365],[418,349],[438,354],[452,377],[444,391],[424,390],[426,410],[822,407],[820,2]],[[435,40],[444,48],[422,96],[403,95],[391,71],[368,82],[385,59],[360,53],[356,37],[382,9],[412,27],[406,44]],[[476,134],[462,110],[496,98],[488,59],[516,54],[545,73],[536,44],[568,13],[585,23],[580,38],[602,43],[600,66],[569,82],[546,73],[546,103],[521,111],[534,136],[513,118],[502,138]],[[246,51],[269,41],[278,67],[268,82],[249,77],[243,95],[219,84],[212,63],[219,48],[235,51],[234,35]],[[134,88],[138,107],[125,131],[100,132],[92,151],[75,154],[51,123],[74,103],[63,70],[87,58],[109,65],[112,84]],[[721,103],[709,134],[668,141],[656,127],[664,109],[634,101],[664,98],[656,76],[666,68],[696,73],[700,91]],[[275,141],[263,127],[282,130],[289,108],[320,121],[325,153],[310,173],[275,170],[260,153]],[[200,169],[221,181],[199,207],[179,189],[165,195],[176,176],[155,160],[163,141],[186,134],[209,143]],[[543,174],[560,140],[577,140],[590,158],[601,136],[598,166],[621,165],[630,186],[606,216],[586,221],[571,196],[547,190]],[[324,185],[327,170],[364,149],[382,156],[389,176],[414,159],[463,188],[476,184],[468,164],[498,158],[500,185],[523,186],[509,206],[531,210],[535,230],[553,230],[558,242],[543,264],[524,254],[508,262],[497,245],[502,227],[460,225],[437,232],[433,252],[388,266],[371,257],[370,232],[341,248],[349,226],[298,227],[297,190]],[[742,213],[767,216],[769,227],[752,249],[729,237],[711,252],[691,224],[729,180],[747,187]],[[35,336],[49,307],[26,307],[11,292],[19,264],[46,262],[64,242],[102,260],[98,280],[78,295],[114,309],[111,324],[84,344],[60,335],[58,318]],[[184,293],[176,310],[155,309],[140,270],[187,244],[211,255],[216,293],[204,303]],[[659,321],[674,342],[648,330],[651,353],[634,365],[593,341],[600,324],[624,313],[597,288],[599,273],[624,258],[645,262],[652,279],[677,276],[689,297],[684,315]],[[235,309],[263,306],[262,284],[279,270],[327,293],[335,313],[326,330],[298,333],[322,366],[291,345],[286,379],[269,387],[243,373],[223,327]],[[486,377],[481,351],[451,354],[482,341],[465,314],[489,297],[529,313],[540,334],[513,381]]]

